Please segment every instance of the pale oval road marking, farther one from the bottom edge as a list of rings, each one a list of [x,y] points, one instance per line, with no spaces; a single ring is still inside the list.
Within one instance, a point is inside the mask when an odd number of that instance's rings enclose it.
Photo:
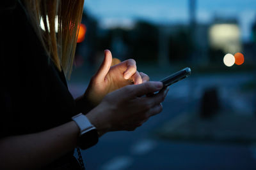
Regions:
[[[134,155],[143,155],[153,150],[155,146],[155,141],[144,139],[142,141],[139,141],[138,143],[135,143],[135,145],[132,145],[131,153]]]

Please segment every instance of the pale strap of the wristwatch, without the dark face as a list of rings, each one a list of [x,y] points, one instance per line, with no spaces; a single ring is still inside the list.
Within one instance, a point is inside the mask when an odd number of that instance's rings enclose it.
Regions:
[[[82,113],[79,113],[78,115],[72,117],[72,120],[74,120],[79,127],[80,136],[88,131],[91,131],[92,129],[96,129],[88,120],[88,118]]]

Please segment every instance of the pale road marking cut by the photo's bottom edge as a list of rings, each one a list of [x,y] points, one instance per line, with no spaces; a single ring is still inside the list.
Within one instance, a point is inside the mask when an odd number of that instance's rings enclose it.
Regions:
[[[115,157],[102,166],[102,170],[123,170],[132,164],[132,158],[127,156]]]

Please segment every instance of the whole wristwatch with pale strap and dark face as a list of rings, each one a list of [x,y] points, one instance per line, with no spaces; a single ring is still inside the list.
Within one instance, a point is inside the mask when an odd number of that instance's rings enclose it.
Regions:
[[[97,129],[91,124],[88,118],[79,113],[78,115],[72,117],[72,120],[76,122],[77,126],[80,129],[79,139],[77,145],[82,150],[90,148],[99,141],[99,136]]]

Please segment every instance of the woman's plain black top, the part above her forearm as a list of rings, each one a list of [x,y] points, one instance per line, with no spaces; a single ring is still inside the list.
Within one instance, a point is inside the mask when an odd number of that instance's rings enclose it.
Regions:
[[[1,115],[0,138],[45,131],[75,115],[75,102],[63,72],[42,47],[24,6],[1,3]],[[68,153],[58,160],[72,159]]]

